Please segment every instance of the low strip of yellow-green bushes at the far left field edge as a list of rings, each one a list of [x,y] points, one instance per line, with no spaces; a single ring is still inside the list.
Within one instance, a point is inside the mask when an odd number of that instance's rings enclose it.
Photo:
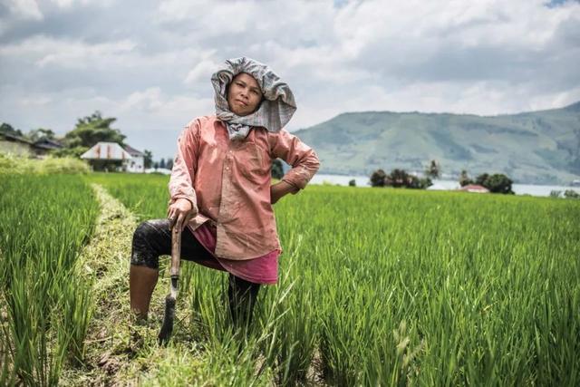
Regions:
[[[27,159],[11,155],[0,155],[0,175],[53,173],[89,173],[91,168],[82,160],[73,158]]]

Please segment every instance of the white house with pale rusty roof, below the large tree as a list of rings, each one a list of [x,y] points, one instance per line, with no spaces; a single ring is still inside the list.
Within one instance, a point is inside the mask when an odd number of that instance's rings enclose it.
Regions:
[[[81,159],[121,161],[121,170],[143,173],[145,171],[144,156],[140,150],[129,146],[123,149],[117,142],[100,141],[90,150],[82,153]]]

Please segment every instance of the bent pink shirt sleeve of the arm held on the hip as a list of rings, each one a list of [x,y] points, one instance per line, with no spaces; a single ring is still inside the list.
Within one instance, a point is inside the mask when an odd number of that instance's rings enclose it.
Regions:
[[[271,133],[271,136],[273,137],[273,157],[285,160],[292,166],[282,180],[296,188],[294,193],[299,189],[304,189],[320,168],[320,160],[316,152],[288,131]]]

